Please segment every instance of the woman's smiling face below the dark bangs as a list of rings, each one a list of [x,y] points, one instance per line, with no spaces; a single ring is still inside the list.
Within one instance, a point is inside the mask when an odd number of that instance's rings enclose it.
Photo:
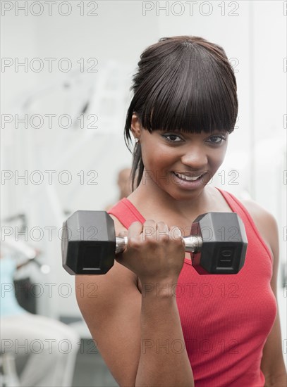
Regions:
[[[228,140],[228,132],[220,130],[212,134],[149,133],[140,128],[134,134],[140,138],[145,165],[142,184],[152,184],[176,200],[200,194],[224,161]]]

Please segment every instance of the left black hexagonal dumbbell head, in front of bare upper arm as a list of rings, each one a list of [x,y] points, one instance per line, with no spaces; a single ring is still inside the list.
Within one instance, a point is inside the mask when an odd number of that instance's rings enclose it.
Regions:
[[[104,211],[76,211],[63,222],[63,267],[70,274],[105,274],[114,265],[114,220]]]

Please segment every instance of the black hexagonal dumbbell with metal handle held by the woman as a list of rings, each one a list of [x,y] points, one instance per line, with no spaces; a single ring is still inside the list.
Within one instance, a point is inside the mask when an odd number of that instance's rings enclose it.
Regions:
[[[248,246],[245,227],[234,212],[207,212],[195,219],[184,237],[199,274],[237,274]],[[106,274],[127,237],[115,234],[114,220],[104,211],[76,211],[63,222],[61,250],[69,274]],[[136,258],[135,258],[136,259]]]

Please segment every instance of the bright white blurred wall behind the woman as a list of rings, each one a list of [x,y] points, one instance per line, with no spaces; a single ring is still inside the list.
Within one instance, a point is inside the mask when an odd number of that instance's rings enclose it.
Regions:
[[[5,1],[2,6],[3,3]],[[23,1],[18,3],[24,5]],[[65,218],[63,210],[100,210],[116,201],[116,172],[130,163],[123,141],[130,79],[142,50],[159,37],[202,36],[223,46],[228,58],[233,58],[238,70],[238,128],[230,137],[226,163],[221,167],[226,172],[226,181],[221,184],[218,175],[214,184],[238,195],[250,196],[274,214],[279,222],[281,262],[286,259],[283,244],[286,225],[286,185],[283,184],[286,20],[283,2],[226,1],[225,15],[221,15],[221,1],[197,1],[193,15],[185,1],[175,3],[161,1],[159,5],[167,8],[159,11],[157,2],[97,1],[97,16],[87,16],[92,8],[85,8],[85,15],[81,16],[77,6],[80,1],[71,1],[71,15],[66,17],[55,11],[56,8],[49,16],[46,7],[38,17],[31,14],[30,8],[27,16],[23,11],[17,15],[15,8],[3,13],[2,8],[2,56],[13,58],[14,62],[16,58],[19,61],[28,58],[29,63],[37,57],[46,64],[41,72],[30,69],[25,72],[23,68],[17,72],[14,65],[2,68],[2,115],[53,113],[58,118],[67,113],[75,119],[92,94],[93,102],[87,113],[99,118],[97,129],[63,129],[58,125],[50,129],[47,120],[39,129],[26,129],[23,124],[17,129],[15,122],[1,127],[2,170],[13,174],[13,178],[2,183],[2,217],[26,212],[28,232],[33,227],[42,228],[43,239],[35,241],[36,236],[30,243],[43,250],[42,259],[51,266],[51,274],[41,281],[56,283],[53,297],[45,293],[45,303],[40,303],[43,314],[80,315],[73,294],[68,298],[59,295],[59,286],[68,283],[72,287],[73,278],[61,268],[59,237],[54,233],[49,241],[45,227],[56,227],[58,231]],[[147,11],[152,6],[154,8]],[[34,12],[37,12],[37,5]],[[182,15],[178,15],[181,12]],[[78,71],[61,72],[53,65],[49,72],[44,58],[56,58],[54,64],[61,58],[69,58],[73,70]],[[79,72],[77,61],[80,58],[84,58],[85,65],[89,58],[96,58],[98,72]],[[70,87],[63,87],[67,83]],[[117,91],[109,94],[113,85]],[[30,180],[28,184],[19,180],[17,184],[16,170],[19,174],[28,170],[29,178],[32,171],[39,170],[45,177],[44,182],[36,185]],[[45,170],[56,170],[51,185]],[[62,170],[71,173],[71,184],[57,181]],[[85,176],[83,185],[77,175],[81,170]],[[238,170],[236,186],[228,184],[230,170]],[[89,171],[97,172],[97,185],[87,184]],[[281,307],[282,314],[286,315]]]

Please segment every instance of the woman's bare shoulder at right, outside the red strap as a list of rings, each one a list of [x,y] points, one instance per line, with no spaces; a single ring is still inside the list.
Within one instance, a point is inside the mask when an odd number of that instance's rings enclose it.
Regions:
[[[279,255],[279,246],[278,226],[274,215],[255,201],[250,199],[241,199],[240,201],[248,210],[250,217],[259,231],[259,234],[262,236],[262,239],[267,244],[269,250],[271,250],[271,255],[273,255],[274,259],[276,259]]]

